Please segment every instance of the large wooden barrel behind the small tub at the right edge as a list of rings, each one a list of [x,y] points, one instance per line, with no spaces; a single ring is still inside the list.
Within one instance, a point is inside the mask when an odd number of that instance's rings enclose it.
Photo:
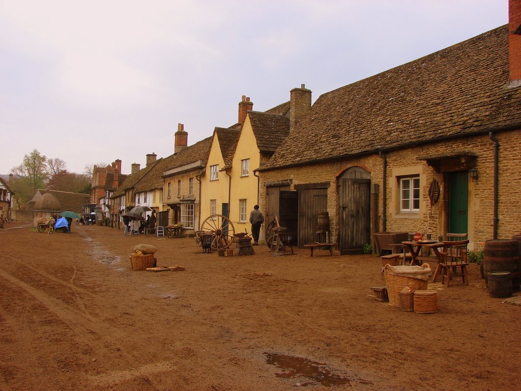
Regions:
[[[513,239],[491,239],[485,241],[483,254],[483,272],[488,284],[488,274],[491,272],[519,272],[519,245]],[[512,290],[519,291],[521,277],[512,278]]]

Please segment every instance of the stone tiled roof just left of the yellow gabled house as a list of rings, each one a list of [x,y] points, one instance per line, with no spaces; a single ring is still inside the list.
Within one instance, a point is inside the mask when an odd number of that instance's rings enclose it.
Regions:
[[[156,164],[151,173],[139,182],[139,186],[136,187],[135,191],[139,192],[163,188],[163,173],[172,168],[182,167],[199,160],[205,164],[208,159],[210,146],[212,146],[212,137],[207,137],[204,140],[183,148],[177,154],[163,158],[161,162]]]

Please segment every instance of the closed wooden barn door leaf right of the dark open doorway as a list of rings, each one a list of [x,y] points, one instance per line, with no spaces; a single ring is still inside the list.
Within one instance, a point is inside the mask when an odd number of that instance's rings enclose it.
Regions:
[[[318,212],[327,211],[327,189],[299,189],[299,247],[317,240]]]

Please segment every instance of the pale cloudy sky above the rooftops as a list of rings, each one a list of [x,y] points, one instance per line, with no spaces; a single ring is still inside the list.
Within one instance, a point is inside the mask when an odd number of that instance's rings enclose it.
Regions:
[[[508,22],[508,0],[0,0],[0,174],[33,149],[69,172],[173,153],[266,111]]]

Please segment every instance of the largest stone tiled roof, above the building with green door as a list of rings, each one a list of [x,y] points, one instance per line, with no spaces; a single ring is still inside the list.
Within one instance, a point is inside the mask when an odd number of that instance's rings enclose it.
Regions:
[[[521,124],[507,26],[320,95],[263,169]]]

